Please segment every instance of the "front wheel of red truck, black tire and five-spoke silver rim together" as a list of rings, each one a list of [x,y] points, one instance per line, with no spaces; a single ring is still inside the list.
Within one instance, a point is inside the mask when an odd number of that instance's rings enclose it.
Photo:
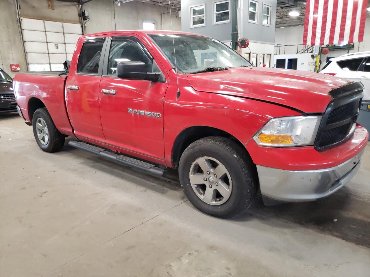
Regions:
[[[200,211],[220,218],[239,215],[256,193],[252,162],[234,141],[206,137],[182,153],[179,178],[189,201]]]

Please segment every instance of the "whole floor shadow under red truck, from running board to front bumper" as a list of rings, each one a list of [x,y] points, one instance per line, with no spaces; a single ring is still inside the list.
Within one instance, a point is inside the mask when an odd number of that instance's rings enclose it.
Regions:
[[[68,146],[67,143],[64,146],[64,150],[73,155],[85,155],[88,166],[122,178],[125,181],[134,182],[144,189],[151,189],[161,194],[166,194],[168,191],[181,190],[176,170],[169,170],[168,177],[162,179],[104,160],[83,150],[77,150]],[[349,189],[344,187],[327,198],[313,202],[265,206],[259,197],[246,212],[230,220],[248,224],[247,222],[251,218],[257,218],[265,224],[276,224],[275,220],[270,220],[276,219],[285,223],[295,223],[305,228],[313,229],[316,232],[335,236],[350,243],[370,248],[369,204],[370,202],[367,199],[351,196]],[[194,212],[197,212],[195,208]]]

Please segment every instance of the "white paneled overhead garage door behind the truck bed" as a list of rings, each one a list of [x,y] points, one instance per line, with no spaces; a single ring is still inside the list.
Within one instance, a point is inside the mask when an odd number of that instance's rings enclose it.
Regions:
[[[28,70],[63,71],[63,62],[71,60],[81,25],[21,18]]]

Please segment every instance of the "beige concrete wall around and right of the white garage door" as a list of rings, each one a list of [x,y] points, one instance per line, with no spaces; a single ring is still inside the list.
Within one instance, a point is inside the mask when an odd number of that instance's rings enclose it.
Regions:
[[[46,0],[19,0],[20,16],[50,21],[78,23],[78,5],[68,1],[54,0],[54,10],[50,10]],[[90,20],[86,23],[86,33],[110,30],[142,29],[144,21],[155,23],[156,29],[171,30],[167,8],[153,4],[132,1],[120,6],[113,0],[94,0],[84,5]],[[173,30],[181,30],[181,19],[172,10]],[[22,53],[21,38],[17,23],[15,0],[1,0],[0,8],[0,66],[11,77],[10,64],[19,64],[21,71],[27,70]]]

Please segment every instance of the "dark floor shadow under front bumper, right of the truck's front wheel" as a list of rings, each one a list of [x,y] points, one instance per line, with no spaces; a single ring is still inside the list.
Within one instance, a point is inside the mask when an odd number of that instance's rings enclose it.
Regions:
[[[340,193],[313,202],[265,206],[259,198],[248,211],[234,220],[258,217],[269,224],[273,222],[269,219],[273,218],[370,248],[369,204],[368,201],[351,197],[344,187]]]

